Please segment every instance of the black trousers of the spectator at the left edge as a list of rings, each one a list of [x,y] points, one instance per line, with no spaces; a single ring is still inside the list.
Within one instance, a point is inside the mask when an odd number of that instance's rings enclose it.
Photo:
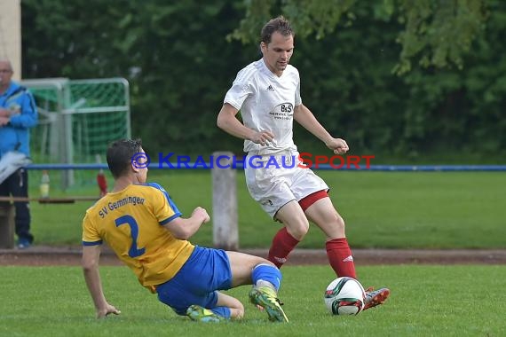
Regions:
[[[0,184],[0,196],[28,198],[28,172],[26,169],[18,169]],[[14,202],[16,208],[16,235],[18,239],[26,239],[32,243],[34,236],[30,233],[30,208],[28,201]]]

